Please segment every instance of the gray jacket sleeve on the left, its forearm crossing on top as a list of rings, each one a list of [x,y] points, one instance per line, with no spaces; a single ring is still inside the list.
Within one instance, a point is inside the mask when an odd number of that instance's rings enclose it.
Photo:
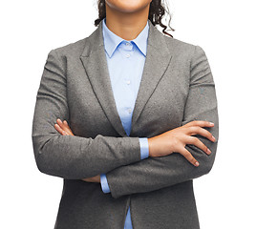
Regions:
[[[61,135],[56,119],[69,120],[65,60],[49,52],[36,95],[32,147],[40,172],[69,179],[95,177],[140,160],[139,137]]]

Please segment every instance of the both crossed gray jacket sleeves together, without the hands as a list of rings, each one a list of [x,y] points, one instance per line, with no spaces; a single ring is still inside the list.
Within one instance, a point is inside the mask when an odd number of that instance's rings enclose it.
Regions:
[[[215,84],[203,49],[195,46],[191,60],[190,89],[182,125],[201,119],[214,122],[210,130],[216,141],[197,137],[212,152],[210,156],[194,145],[185,148],[200,162],[191,165],[180,154],[140,158],[139,137],[97,135],[95,139],[58,135],[53,130],[57,117],[68,119],[65,73],[56,53],[49,53],[37,94],[32,140],[41,172],[64,178],[93,177],[102,173],[113,198],[168,187],[207,174],[213,165],[219,138],[219,120]],[[56,88],[53,88],[57,82]],[[49,107],[46,112],[43,107]],[[53,113],[53,117],[47,115]],[[78,149],[78,150],[77,150]],[[103,155],[102,155],[102,152]]]

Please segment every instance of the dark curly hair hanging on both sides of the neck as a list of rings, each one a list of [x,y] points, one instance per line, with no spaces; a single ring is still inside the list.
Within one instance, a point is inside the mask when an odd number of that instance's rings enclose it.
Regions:
[[[98,18],[95,20],[95,26],[98,26],[101,20],[103,20],[106,17],[106,5],[105,5],[105,0],[97,0],[97,9],[98,9]],[[149,14],[148,14],[148,19],[152,22],[154,26],[157,24],[160,25],[160,27],[163,28],[162,32],[164,34],[167,34],[171,37],[173,37],[171,34],[169,34],[166,30],[167,26],[163,25],[161,23],[162,16],[164,15],[165,11],[169,14],[170,19],[168,26],[170,27],[170,21],[171,21],[171,15],[169,13],[167,4],[163,5],[161,3],[161,0],[152,0],[150,3],[149,7]],[[172,31],[175,31],[170,27]]]

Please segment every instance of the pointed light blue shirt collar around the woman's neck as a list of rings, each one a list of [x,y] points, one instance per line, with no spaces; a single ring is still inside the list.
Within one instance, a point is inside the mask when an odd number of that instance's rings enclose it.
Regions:
[[[139,35],[135,39],[130,41],[130,42],[133,41],[139,48],[140,52],[142,52],[144,55],[146,55],[146,51],[147,51],[147,38],[148,38],[148,31],[149,31],[148,20],[147,20],[146,26],[142,31],[140,31]],[[116,51],[118,44],[124,39],[117,36],[117,34],[114,33],[113,31],[110,31],[106,26],[105,21],[106,21],[106,17],[103,19],[103,27],[102,27],[104,46],[105,46],[106,52],[108,52],[108,55],[111,57],[113,52]]]

